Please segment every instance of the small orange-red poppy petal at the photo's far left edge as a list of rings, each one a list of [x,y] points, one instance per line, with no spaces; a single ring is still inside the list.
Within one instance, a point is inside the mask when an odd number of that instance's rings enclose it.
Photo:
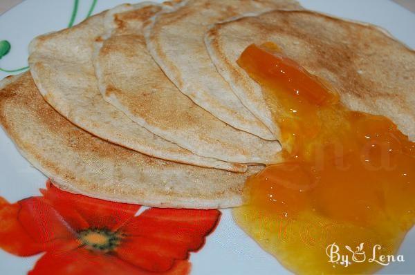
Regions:
[[[0,197],[0,247],[17,256],[32,256],[42,252],[42,246],[30,238],[17,220],[21,206]]]

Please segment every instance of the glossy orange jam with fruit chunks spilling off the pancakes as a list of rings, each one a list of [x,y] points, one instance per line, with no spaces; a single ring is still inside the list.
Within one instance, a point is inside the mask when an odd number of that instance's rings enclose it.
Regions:
[[[234,219],[299,274],[375,272],[415,221],[415,143],[386,117],[351,111],[323,79],[275,44],[239,66],[261,85],[280,126],[284,163],[248,179]]]

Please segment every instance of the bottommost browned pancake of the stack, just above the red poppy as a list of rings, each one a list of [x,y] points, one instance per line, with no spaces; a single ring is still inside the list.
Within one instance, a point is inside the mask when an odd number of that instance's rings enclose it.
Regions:
[[[59,188],[153,207],[241,205],[248,173],[194,167],[142,155],[77,128],[40,95],[30,73],[0,82],[0,123],[24,157]]]

